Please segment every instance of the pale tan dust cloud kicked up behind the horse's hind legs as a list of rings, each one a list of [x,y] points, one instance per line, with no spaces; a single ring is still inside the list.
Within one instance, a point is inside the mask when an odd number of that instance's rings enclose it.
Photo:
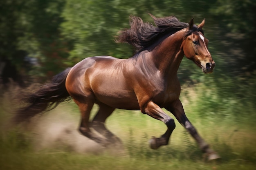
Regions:
[[[33,148],[37,151],[50,149],[94,154],[106,150],[79,132],[79,111],[72,115],[72,107],[66,105],[60,104],[24,124],[25,132],[31,134]]]

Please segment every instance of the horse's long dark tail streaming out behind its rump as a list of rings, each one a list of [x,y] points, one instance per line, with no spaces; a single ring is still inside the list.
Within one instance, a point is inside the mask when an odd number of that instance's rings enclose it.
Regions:
[[[27,104],[16,111],[13,123],[18,124],[42,113],[49,111],[59,103],[68,101],[71,98],[67,92],[65,82],[71,68],[55,75],[51,82],[44,84],[35,93],[22,94],[21,102]]]

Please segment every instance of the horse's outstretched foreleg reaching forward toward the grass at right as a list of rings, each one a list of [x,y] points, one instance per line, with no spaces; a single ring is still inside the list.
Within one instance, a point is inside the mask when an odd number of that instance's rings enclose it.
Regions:
[[[191,136],[197,141],[200,149],[202,152],[206,153],[208,155],[208,159],[218,159],[220,158],[218,154],[211,150],[209,144],[207,144],[202,137],[198,134],[195,127],[191,124],[189,119],[186,117],[184,113],[184,109],[182,106],[182,103],[180,100],[174,102],[171,106],[165,107],[168,111],[173,113],[173,115],[176,117],[176,119],[188,130],[188,132],[191,134]]]

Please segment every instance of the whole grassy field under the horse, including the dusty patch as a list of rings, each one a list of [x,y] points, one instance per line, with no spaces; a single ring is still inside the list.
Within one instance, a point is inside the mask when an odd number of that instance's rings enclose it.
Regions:
[[[123,150],[104,149],[80,135],[77,131],[80,115],[73,102],[59,105],[25,127],[10,129],[8,110],[15,106],[7,98],[3,96],[0,108],[1,170],[256,169],[256,127],[245,119],[202,117],[185,98],[187,117],[222,159],[207,161],[176,120],[170,144],[151,150],[148,140],[162,135],[166,126],[139,111],[115,110],[107,121],[107,127],[122,139]],[[97,106],[92,116],[96,111]]]

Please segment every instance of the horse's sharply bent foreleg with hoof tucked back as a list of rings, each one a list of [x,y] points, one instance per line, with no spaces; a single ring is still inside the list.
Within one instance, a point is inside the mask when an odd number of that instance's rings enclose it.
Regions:
[[[161,137],[153,137],[150,139],[150,148],[157,149],[160,146],[168,145],[171,133],[175,129],[174,119],[166,115],[166,113],[153,102],[148,102],[146,107],[142,110],[142,113],[146,113],[157,120],[163,121],[167,126],[166,132]]]

